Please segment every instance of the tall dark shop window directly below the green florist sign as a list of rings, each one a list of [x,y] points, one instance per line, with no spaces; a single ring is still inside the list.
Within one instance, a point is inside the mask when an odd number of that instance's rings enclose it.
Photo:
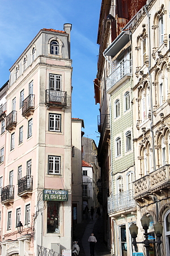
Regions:
[[[59,203],[47,204],[47,233],[59,233]]]

